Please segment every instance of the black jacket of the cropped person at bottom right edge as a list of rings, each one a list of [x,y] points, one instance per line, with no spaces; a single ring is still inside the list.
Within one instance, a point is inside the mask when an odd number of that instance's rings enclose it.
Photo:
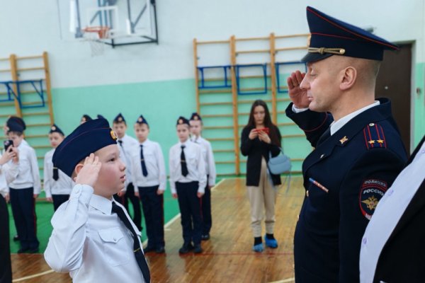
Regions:
[[[425,136],[409,158],[407,165],[418,154],[424,141]],[[425,180],[422,180],[419,189],[382,248],[373,282],[381,280],[388,283],[413,283],[425,280]]]

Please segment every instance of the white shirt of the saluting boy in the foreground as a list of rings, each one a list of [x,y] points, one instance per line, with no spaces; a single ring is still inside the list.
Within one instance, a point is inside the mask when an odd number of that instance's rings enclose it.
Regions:
[[[69,200],[53,215],[44,253],[47,264],[56,272],[69,272],[74,282],[145,282],[133,253],[132,234],[111,213],[115,201],[93,192],[89,185],[75,185]],[[140,242],[140,231],[130,223]]]

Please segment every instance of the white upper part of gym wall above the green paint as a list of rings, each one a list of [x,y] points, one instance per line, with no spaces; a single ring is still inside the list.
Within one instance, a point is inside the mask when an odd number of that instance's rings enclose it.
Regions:
[[[425,61],[424,0],[157,0],[159,45],[106,46],[98,57],[91,57],[86,42],[63,40],[69,23],[59,16],[58,1],[67,13],[63,6],[69,0],[3,1],[0,8],[0,57],[47,51],[53,88],[193,78],[193,38],[308,33],[307,5],[373,27],[386,40],[415,42],[416,62]]]

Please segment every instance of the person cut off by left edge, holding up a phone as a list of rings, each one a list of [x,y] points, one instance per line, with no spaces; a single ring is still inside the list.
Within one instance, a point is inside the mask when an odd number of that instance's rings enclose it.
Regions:
[[[13,160],[11,164],[8,161]],[[10,146],[0,156],[0,282],[12,282],[11,247],[9,243],[9,223],[7,204],[9,189],[7,183],[18,175],[18,151]]]

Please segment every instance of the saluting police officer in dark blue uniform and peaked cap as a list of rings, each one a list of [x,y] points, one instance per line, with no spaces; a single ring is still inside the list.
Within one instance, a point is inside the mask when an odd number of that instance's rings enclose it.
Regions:
[[[380,37],[307,7],[307,74],[288,78],[286,114],[315,148],[302,164],[295,280],[358,282],[365,227],[407,159],[390,100],[375,99]]]

